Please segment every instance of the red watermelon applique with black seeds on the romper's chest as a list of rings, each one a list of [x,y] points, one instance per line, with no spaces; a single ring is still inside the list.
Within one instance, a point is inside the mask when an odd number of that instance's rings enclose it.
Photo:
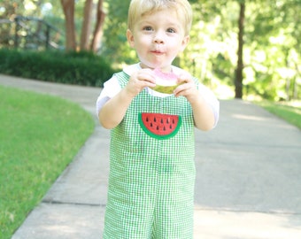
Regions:
[[[181,116],[143,112],[139,114],[139,124],[147,135],[157,139],[169,139],[178,133]]]

